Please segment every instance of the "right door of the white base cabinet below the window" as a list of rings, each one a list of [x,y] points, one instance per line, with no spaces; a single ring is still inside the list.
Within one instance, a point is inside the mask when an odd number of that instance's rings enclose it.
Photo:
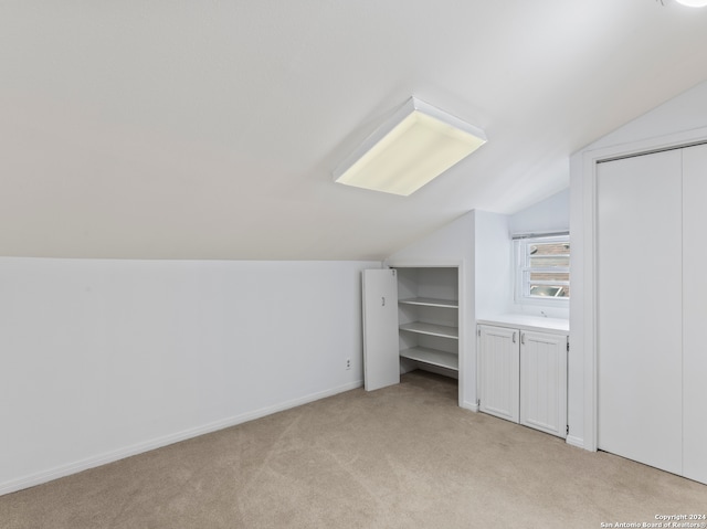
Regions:
[[[567,337],[523,332],[520,424],[566,436]]]

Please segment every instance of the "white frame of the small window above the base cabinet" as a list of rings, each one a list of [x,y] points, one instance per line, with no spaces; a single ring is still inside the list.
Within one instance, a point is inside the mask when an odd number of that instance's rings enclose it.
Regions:
[[[537,243],[562,243],[570,242],[568,232],[553,233],[548,235],[515,235],[515,301],[521,305],[542,305],[551,307],[569,307],[569,297],[550,297],[550,296],[532,296],[530,295],[530,272],[559,272],[570,273],[570,267],[548,267],[548,268],[530,268],[530,254],[528,248]],[[570,247],[571,252],[571,247]],[[552,282],[558,284],[558,282]],[[561,282],[569,286],[569,282]]]

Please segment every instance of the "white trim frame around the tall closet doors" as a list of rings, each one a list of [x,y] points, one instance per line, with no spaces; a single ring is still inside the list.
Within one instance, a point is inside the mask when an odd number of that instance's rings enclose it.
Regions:
[[[568,443],[597,451],[598,446],[598,355],[597,355],[597,247],[598,247],[598,163],[630,156],[640,156],[661,150],[680,149],[707,142],[707,127],[675,133],[640,141],[614,145],[583,152],[581,158],[581,182],[577,192],[581,193],[581,233],[572,229],[579,244],[572,243],[572,274],[579,276],[572,292],[577,301],[570,299],[571,340],[582,347],[581,373],[583,378],[583,429],[581,437],[568,437]],[[573,191],[574,192],[574,191]],[[576,216],[577,218],[577,216]],[[579,269],[578,269],[579,268]],[[579,321],[572,322],[572,311]],[[571,368],[570,368],[571,369]],[[570,373],[571,378],[571,373]],[[577,380],[574,380],[577,382]],[[570,390],[571,391],[571,390]],[[570,396],[571,398],[571,396]],[[570,435],[571,435],[570,430]]]

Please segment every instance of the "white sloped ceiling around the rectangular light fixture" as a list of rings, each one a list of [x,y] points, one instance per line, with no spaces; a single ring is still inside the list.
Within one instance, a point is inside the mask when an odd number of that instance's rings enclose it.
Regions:
[[[383,258],[707,78],[664,0],[3,0],[0,255]],[[411,95],[488,144],[403,198],[331,171]]]

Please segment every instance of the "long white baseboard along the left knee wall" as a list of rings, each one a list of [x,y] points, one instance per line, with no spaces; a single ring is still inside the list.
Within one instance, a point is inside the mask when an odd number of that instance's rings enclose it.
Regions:
[[[67,465],[60,465],[54,468],[50,468],[49,470],[31,474],[29,476],[24,476],[19,479],[10,479],[9,482],[4,482],[0,484],[0,496],[10,494],[10,493],[17,493],[18,490],[22,490],[24,488],[34,487],[36,485],[41,485],[43,483],[51,482],[53,479],[59,479],[60,477],[77,474],[80,472],[87,470],[89,468],[95,468],[101,465],[106,465],[108,463],[113,463],[118,459],[125,459],[126,457],[130,457],[137,454],[143,454],[144,452],[161,448],[162,446],[179,443],[180,441],[186,441],[188,438],[198,437],[199,435],[204,435],[211,432],[217,432],[219,430],[235,426],[238,424],[253,421],[255,419],[261,419],[266,415],[271,415],[273,413],[282,412],[284,410],[289,410],[291,408],[297,408],[303,404],[307,404],[309,402],[325,399],[327,396],[333,396],[339,393],[344,393],[345,391],[350,391],[350,390],[361,388],[362,385],[363,385],[363,381],[357,380],[348,384],[339,385],[338,388],[331,388],[329,390],[312,393],[312,394],[302,396],[299,399],[294,399],[292,401],[275,404],[273,406],[262,408],[260,410],[242,413],[240,415],[235,415],[228,419],[223,419],[221,421],[215,421],[209,424],[204,424],[202,426],[183,430],[181,432],[176,432],[173,434],[165,435],[154,440],[145,441],[143,443],[137,443],[130,446],[126,446],[124,448],[118,448],[112,452],[106,452],[104,454],[87,457],[85,459],[70,463]]]

